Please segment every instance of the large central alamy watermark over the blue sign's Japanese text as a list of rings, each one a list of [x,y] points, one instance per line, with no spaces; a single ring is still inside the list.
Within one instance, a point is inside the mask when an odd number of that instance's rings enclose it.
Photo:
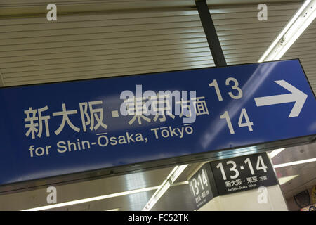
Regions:
[[[166,121],[166,115],[173,118],[183,117],[183,123],[193,123],[197,115],[209,114],[204,96],[197,97],[197,91],[152,91],[143,92],[142,85],[136,85],[136,95],[133,91],[121,92],[123,100],[120,107],[121,115],[133,115],[129,121],[132,124],[136,119],[138,124],[142,120],[150,122],[147,117],[154,116],[154,121]]]

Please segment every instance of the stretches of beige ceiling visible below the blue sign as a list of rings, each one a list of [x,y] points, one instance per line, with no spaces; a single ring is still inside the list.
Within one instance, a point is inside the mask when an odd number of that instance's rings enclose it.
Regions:
[[[286,148],[272,158],[273,165],[285,162],[294,162],[316,158],[316,143],[304,146]],[[190,178],[205,162],[197,162],[189,165],[176,179],[162,198],[152,207],[152,210],[159,211],[192,211],[195,210],[194,199],[190,193],[190,187],[184,181]],[[294,179],[281,185],[284,198],[287,200],[305,189],[311,189],[315,185],[316,162],[308,162],[289,167],[276,168],[277,178],[296,176]],[[150,191],[126,194],[103,200],[92,200],[86,203],[57,207],[51,210],[143,210],[145,204],[150,200],[158,186],[169,175],[173,167],[154,169],[146,172],[138,172],[121,176],[112,176],[105,179],[77,182],[74,184],[62,184],[55,186],[57,190],[57,203],[67,203],[74,200],[81,200],[124,191],[136,190],[139,188],[152,188]],[[46,198],[48,193],[45,188],[20,193],[0,195],[0,211],[2,210],[27,210],[34,207],[48,205]]]

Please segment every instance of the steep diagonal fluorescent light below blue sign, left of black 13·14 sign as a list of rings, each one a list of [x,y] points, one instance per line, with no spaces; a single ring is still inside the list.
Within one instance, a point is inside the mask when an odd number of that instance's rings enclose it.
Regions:
[[[173,184],[174,181],[180,176],[180,174],[185,170],[187,167],[186,165],[176,166],[172,169],[170,174],[166,177],[166,179],[162,182],[162,184],[159,186],[157,191],[152,195],[152,198],[146,203],[145,207],[142,211],[150,211],[152,207],[157,203],[159,198],[164,195],[164,193],[170,188],[170,186]],[[187,184],[187,182],[184,182],[183,184]]]

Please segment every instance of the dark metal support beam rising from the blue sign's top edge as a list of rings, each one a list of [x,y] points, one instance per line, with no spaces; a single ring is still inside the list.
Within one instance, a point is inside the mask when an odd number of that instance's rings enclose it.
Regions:
[[[195,4],[197,6],[197,11],[199,12],[199,18],[201,19],[207,42],[209,42],[209,49],[211,49],[215,65],[227,65],[206,0],[197,0],[195,1]]]

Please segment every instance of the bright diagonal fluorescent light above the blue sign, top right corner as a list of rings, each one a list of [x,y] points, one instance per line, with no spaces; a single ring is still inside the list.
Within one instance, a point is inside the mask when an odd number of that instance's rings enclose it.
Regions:
[[[316,18],[316,0],[306,0],[258,60],[279,60]]]

